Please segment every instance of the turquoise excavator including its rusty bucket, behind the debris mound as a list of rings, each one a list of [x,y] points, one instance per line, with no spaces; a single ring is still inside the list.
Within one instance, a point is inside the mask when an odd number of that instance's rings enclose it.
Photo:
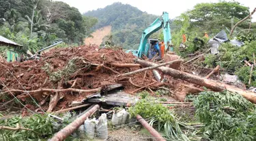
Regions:
[[[150,35],[156,33],[162,28],[162,33],[164,35],[164,44],[165,50],[162,54],[160,49],[158,49],[158,53],[156,53],[155,45],[159,42],[158,39],[149,39]],[[139,58],[143,58],[146,56],[149,59],[160,60],[163,62],[169,62],[172,60],[177,60],[180,56],[177,56],[173,52],[173,46],[171,45],[171,28],[170,28],[170,20],[169,14],[167,12],[162,12],[162,16],[157,18],[150,26],[148,26],[141,36],[141,42],[138,50],[128,50],[126,53],[132,52],[134,56]],[[167,54],[165,54],[167,53]],[[162,55],[162,56],[161,56]],[[181,62],[176,62],[168,67],[178,69],[180,68]]]

